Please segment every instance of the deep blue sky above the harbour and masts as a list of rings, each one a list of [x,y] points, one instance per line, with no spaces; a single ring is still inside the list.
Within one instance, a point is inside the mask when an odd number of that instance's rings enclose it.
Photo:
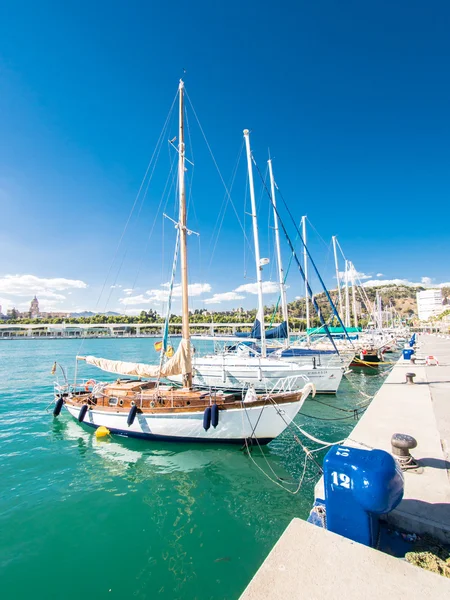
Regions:
[[[270,148],[328,285],[332,235],[363,281],[450,280],[448,2],[25,0],[4,2],[0,17],[4,310],[34,293],[44,310],[162,309],[174,230],[157,207],[176,115],[113,256],[183,69],[227,183],[244,128],[263,173]],[[188,119],[189,224],[201,234],[189,239],[192,308],[254,306],[251,250],[231,206],[216,235],[224,188],[189,106]],[[243,159],[232,198],[250,236]],[[273,258],[259,183],[257,199],[262,255]],[[166,212],[176,216],[173,194]],[[275,277],[272,261],[268,303]],[[288,284],[290,299],[302,293],[294,268]]]

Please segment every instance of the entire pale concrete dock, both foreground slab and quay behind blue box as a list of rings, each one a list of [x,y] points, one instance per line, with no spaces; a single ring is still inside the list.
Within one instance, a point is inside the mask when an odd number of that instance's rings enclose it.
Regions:
[[[438,366],[425,364],[427,356]],[[421,335],[416,363],[400,359],[346,441],[391,452],[394,433],[412,435],[419,468],[406,471],[402,502],[386,520],[450,543],[450,339]],[[415,373],[415,383],[406,383]],[[323,499],[323,483],[316,498]],[[242,600],[327,597],[450,598],[450,579],[294,519],[241,596]]]

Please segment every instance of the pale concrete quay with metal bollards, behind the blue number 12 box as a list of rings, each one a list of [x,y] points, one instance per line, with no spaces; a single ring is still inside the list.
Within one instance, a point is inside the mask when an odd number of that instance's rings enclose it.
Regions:
[[[439,366],[424,364],[430,355]],[[397,362],[346,444],[391,452],[392,434],[412,435],[420,469],[404,473],[403,500],[386,520],[450,543],[450,340],[421,335],[415,356],[416,364]],[[416,374],[414,385],[406,383],[406,373]],[[322,482],[316,497],[324,497]]]

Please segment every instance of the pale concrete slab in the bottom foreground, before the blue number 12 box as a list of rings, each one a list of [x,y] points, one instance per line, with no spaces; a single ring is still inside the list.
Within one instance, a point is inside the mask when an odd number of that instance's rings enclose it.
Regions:
[[[293,519],[241,600],[450,598],[450,579]]]

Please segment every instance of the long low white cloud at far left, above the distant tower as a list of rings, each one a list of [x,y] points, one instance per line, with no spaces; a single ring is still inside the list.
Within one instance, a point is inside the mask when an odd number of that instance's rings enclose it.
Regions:
[[[55,294],[69,289],[84,289],[87,284],[79,279],[63,277],[37,277],[36,275],[5,275],[0,277],[0,293],[15,296],[37,296],[64,299],[65,296]]]

